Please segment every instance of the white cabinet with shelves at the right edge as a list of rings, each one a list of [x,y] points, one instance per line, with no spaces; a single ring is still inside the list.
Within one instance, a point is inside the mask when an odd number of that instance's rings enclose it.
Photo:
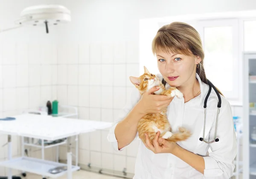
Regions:
[[[253,127],[256,127],[256,52],[243,55],[243,178],[256,179],[256,144],[251,141]],[[256,105],[255,105],[256,106]]]

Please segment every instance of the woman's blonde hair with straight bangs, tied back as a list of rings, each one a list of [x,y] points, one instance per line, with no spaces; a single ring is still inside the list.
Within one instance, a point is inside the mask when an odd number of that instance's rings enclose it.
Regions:
[[[204,50],[197,30],[187,23],[173,22],[162,26],[152,41],[152,52],[156,55],[158,50],[166,53],[180,53],[195,55],[201,58],[196,72],[205,84],[208,84],[204,71]],[[218,88],[217,88],[218,90]],[[220,90],[218,92],[222,95]]]

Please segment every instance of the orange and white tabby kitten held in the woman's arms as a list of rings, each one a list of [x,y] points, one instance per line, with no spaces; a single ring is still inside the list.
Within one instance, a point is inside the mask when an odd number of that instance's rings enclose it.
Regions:
[[[135,87],[140,91],[142,95],[143,92],[150,90],[154,86],[159,86],[159,90],[155,91],[156,95],[166,95],[169,97],[177,96],[177,98],[182,98],[183,94],[176,87],[170,87],[168,90],[165,89],[164,85],[158,78],[151,74],[148,69],[144,66],[144,74],[139,78],[130,76],[130,81]],[[140,119],[137,130],[140,139],[145,143],[144,134],[147,133],[150,142],[155,138],[157,131],[160,131],[160,137],[168,141],[177,142],[184,141],[191,136],[189,130],[184,127],[179,127],[178,133],[172,133],[172,127],[169,124],[166,115],[167,107],[162,110],[161,113],[149,113]]]

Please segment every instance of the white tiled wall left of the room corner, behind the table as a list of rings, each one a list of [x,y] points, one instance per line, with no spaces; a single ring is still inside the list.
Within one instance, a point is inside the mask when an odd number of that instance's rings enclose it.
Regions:
[[[57,46],[51,44],[0,43],[0,117],[46,106],[57,97]],[[7,136],[0,135],[0,160],[7,158]],[[29,150],[30,156],[41,152]],[[20,156],[20,138],[12,136],[12,156]],[[46,150],[46,159],[53,159]],[[6,169],[0,168],[0,176]]]

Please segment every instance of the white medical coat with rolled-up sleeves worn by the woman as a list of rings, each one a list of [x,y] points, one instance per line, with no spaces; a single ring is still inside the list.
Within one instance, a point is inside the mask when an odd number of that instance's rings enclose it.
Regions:
[[[161,76],[158,78],[162,80]],[[233,176],[237,145],[230,104],[221,95],[221,108],[217,126],[217,138],[219,141],[212,144],[200,141],[199,138],[203,137],[204,130],[204,99],[209,87],[201,81],[198,74],[196,74],[196,78],[200,84],[201,94],[186,103],[184,103],[184,98],[179,99],[175,96],[168,107],[167,115],[174,131],[177,131],[177,127],[183,126],[192,132],[192,136],[189,139],[177,142],[177,144],[192,153],[203,156],[205,162],[204,175],[171,153],[153,153],[145,147],[137,135],[134,140],[140,140],[140,144],[134,179],[229,179]],[[169,88],[168,84],[166,84],[166,88]],[[134,92],[131,94],[131,101],[128,101],[119,119],[109,131],[108,141],[111,142],[116,151],[119,151],[114,133],[116,124],[125,118],[139,100],[140,93],[134,88]],[[214,137],[217,103],[218,97],[212,89],[207,102],[206,140],[212,140]],[[209,148],[212,151],[210,153],[208,152]]]

